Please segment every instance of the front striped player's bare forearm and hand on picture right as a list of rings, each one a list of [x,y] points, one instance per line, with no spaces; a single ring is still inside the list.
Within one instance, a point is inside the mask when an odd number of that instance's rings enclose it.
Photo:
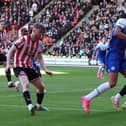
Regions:
[[[41,54],[39,54],[38,61],[39,61],[39,64],[40,64],[41,68],[44,70],[44,72],[46,74],[52,76],[53,73],[51,71],[48,71],[47,68],[45,67],[43,56]]]

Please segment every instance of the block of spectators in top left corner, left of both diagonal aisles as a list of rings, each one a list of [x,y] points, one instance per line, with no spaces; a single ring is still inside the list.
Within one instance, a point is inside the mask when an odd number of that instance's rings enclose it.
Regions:
[[[29,22],[51,0],[11,0],[4,2],[0,9],[0,18],[8,25],[17,23],[19,27]]]

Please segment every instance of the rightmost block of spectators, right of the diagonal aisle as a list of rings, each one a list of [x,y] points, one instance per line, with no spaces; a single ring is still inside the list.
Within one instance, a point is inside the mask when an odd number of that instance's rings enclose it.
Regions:
[[[108,4],[101,2],[98,9],[85,17],[82,24],[70,32],[70,35],[61,40],[60,46],[48,52],[57,56],[78,56],[91,57],[95,46],[103,37],[110,38],[112,27],[120,17],[122,10],[126,10],[125,1],[120,5],[117,2]]]

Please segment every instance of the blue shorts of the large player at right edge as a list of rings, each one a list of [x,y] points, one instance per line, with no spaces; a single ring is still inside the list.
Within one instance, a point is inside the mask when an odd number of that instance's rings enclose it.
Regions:
[[[107,72],[123,72],[126,70],[126,59],[118,53],[108,53],[106,55],[106,71]]]

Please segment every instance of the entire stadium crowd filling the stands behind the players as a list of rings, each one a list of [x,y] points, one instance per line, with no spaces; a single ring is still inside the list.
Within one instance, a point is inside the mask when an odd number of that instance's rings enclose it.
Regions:
[[[30,2],[29,2],[30,1]],[[46,6],[50,2],[49,6]],[[44,8],[44,9],[43,9]],[[0,9],[0,17],[9,25],[18,23],[21,27],[39,13],[32,23],[41,22],[46,28],[43,38],[45,49],[55,45],[49,55],[91,57],[96,43],[103,37],[110,38],[110,33],[115,21],[120,17],[121,10],[126,10],[126,2],[122,4],[106,0],[100,2],[98,9],[85,17],[80,26],[61,39],[90,11],[92,4],[84,0],[13,0],[4,3]],[[57,41],[61,39],[60,46]]]

